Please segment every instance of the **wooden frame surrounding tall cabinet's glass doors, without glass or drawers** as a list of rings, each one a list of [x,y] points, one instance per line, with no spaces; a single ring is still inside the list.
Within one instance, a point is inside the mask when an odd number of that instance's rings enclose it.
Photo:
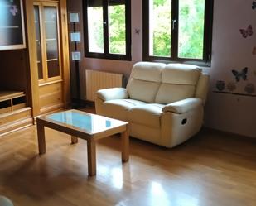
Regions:
[[[56,79],[47,79],[41,82],[38,79],[37,70],[37,56],[36,56],[36,26],[34,17],[34,4],[46,3],[48,5],[58,4],[58,22],[59,22],[59,54],[60,54],[60,74],[61,76]],[[39,86],[44,84],[55,84],[56,81],[63,82],[62,84],[62,98],[64,107],[68,108],[70,105],[70,57],[69,57],[69,41],[68,41],[68,27],[67,27],[67,9],[66,1],[33,1],[27,0],[26,6],[26,21],[27,21],[27,47],[29,53],[29,67],[30,67],[30,92],[31,92],[31,105],[33,117],[38,117],[41,114],[40,109],[40,93]]]

